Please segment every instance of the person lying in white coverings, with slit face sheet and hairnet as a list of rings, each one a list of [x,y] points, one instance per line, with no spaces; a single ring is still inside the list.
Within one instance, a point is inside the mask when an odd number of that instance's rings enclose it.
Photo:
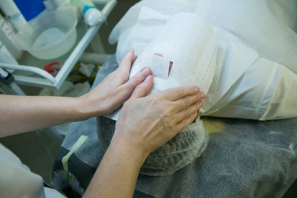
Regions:
[[[196,85],[207,95],[201,115],[258,120],[297,116],[296,93],[290,91],[296,88],[296,74],[260,57],[236,36],[195,13],[168,16],[142,7],[135,25],[117,39],[117,59],[130,48],[140,54],[130,77],[146,66],[152,69],[154,82],[149,94]],[[288,86],[290,81],[295,82],[293,87]],[[287,87],[282,90],[279,86]],[[105,150],[119,112],[98,118],[99,142]],[[150,153],[140,173],[172,174],[197,158],[207,142],[198,120]]]

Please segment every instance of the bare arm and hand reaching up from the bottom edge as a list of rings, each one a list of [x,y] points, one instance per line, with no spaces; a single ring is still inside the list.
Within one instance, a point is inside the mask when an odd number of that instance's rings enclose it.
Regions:
[[[83,198],[132,198],[148,154],[197,118],[205,98],[198,87],[174,88],[145,97],[151,85],[149,75],[124,103],[110,146]]]

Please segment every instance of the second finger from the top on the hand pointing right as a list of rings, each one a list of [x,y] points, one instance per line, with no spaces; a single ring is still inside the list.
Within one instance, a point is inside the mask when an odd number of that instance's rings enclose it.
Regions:
[[[189,107],[190,105],[194,104],[197,101],[201,101],[205,97],[206,96],[204,92],[199,92],[198,94],[186,96],[184,98],[173,101],[173,103],[176,106],[176,112]]]

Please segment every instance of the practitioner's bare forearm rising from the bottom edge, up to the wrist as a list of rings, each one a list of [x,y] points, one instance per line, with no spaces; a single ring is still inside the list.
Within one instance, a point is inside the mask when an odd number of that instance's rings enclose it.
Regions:
[[[84,198],[132,198],[147,156],[135,147],[111,141]]]

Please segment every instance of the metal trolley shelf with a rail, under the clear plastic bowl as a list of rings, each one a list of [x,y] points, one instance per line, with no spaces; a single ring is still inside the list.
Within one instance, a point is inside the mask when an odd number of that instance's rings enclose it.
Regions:
[[[101,13],[107,18],[117,0],[93,0],[98,5]],[[103,22],[102,22],[103,23]],[[77,63],[83,52],[89,46],[92,39],[98,34],[98,30],[102,23],[87,29],[83,19],[77,25],[77,41],[74,47],[61,57],[53,60],[41,60],[33,57],[27,51],[24,52],[22,58],[18,60],[20,65],[0,63],[0,67],[13,69],[13,77],[17,84],[29,85],[34,87],[47,87],[59,89]],[[87,29],[87,31],[86,31]],[[43,70],[43,66],[51,61],[61,62],[63,65],[55,77]],[[30,65],[30,66],[29,66]]]

